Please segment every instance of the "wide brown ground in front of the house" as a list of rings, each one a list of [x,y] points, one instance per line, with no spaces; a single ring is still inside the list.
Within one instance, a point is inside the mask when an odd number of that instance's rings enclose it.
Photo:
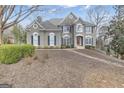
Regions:
[[[100,60],[90,55],[92,51],[89,55],[75,51],[37,50],[33,58],[0,64],[0,83],[12,87],[124,87],[123,63],[113,65],[114,59]]]

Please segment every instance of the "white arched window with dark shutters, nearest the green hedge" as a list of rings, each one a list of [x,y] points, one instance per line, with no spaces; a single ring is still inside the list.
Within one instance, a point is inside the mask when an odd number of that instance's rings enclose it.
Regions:
[[[34,32],[31,36],[31,43],[34,46],[40,45],[40,36],[37,32]]]

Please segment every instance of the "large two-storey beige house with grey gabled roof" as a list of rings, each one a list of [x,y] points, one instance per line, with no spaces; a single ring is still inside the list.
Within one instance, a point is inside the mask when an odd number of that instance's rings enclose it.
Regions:
[[[40,47],[84,48],[96,46],[95,25],[70,13],[63,19],[42,21],[37,17],[27,26],[27,43]]]

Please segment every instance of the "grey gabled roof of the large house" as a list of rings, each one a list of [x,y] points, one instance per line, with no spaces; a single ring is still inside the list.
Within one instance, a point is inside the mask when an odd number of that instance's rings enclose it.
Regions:
[[[80,22],[85,26],[95,26],[89,22],[82,20],[80,17],[77,17],[72,12],[69,13],[64,19],[54,18],[47,21],[39,22],[38,19],[34,20],[27,28],[30,28],[34,23],[37,23],[40,26],[40,29],[43,30],[61,30],[58,26],[62,25],[73,25]]]

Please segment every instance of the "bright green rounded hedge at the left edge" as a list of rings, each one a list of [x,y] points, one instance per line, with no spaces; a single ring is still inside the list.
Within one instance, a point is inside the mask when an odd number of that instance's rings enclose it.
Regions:
[[[16,63],[24,57],[32,56],[35,48],[32,45],[2,45],[0,46],[0,63]]]

